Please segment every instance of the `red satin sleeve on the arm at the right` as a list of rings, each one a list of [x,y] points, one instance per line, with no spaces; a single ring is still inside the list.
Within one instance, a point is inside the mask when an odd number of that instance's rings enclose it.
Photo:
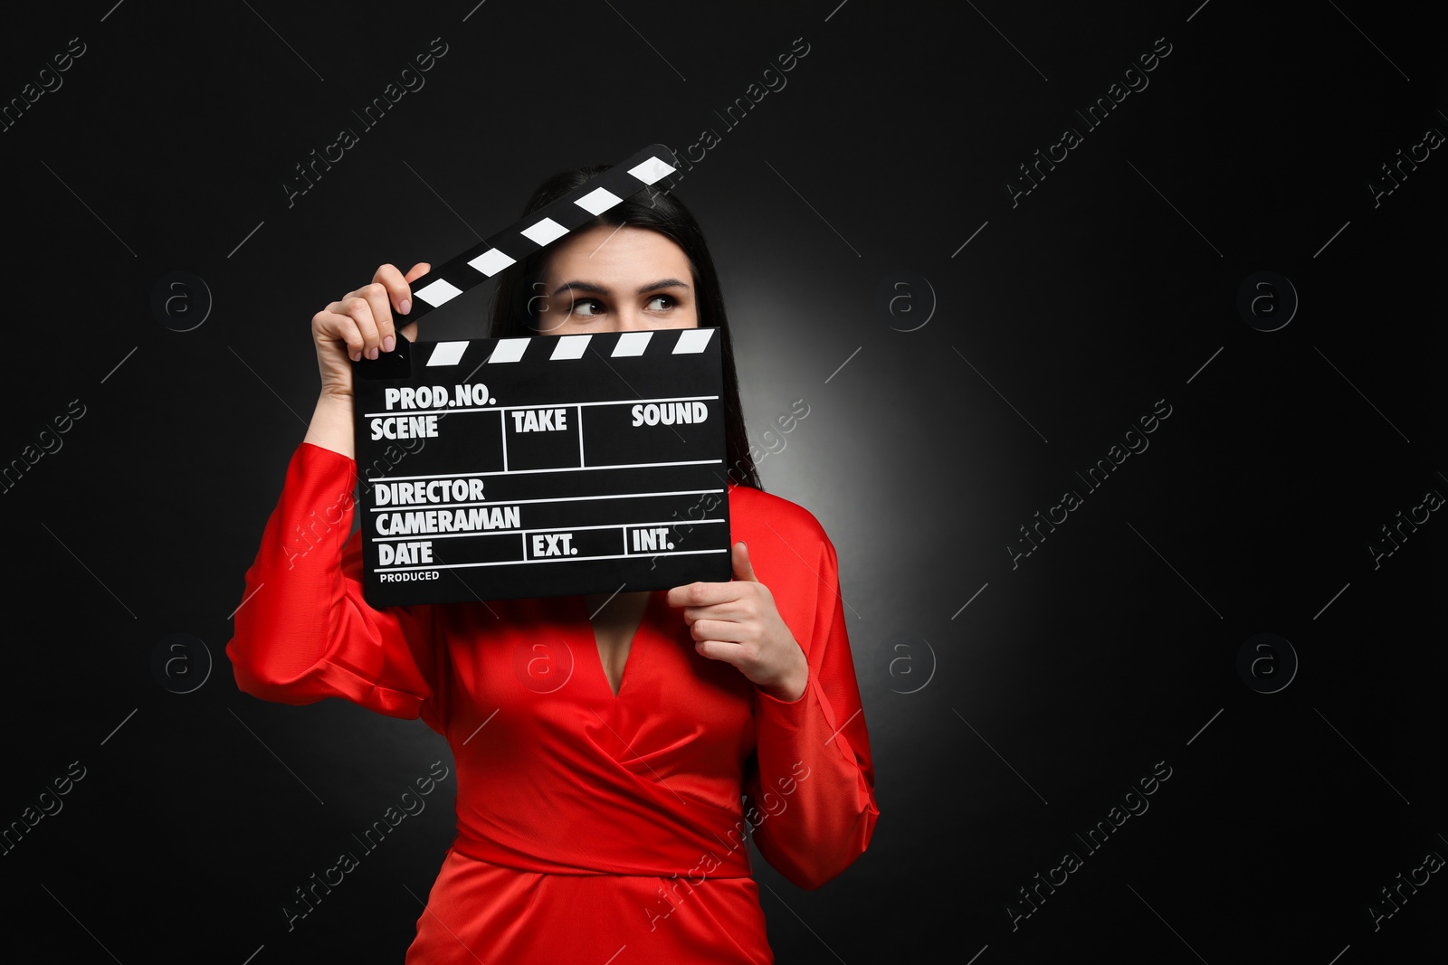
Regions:
[[[879,809],[838,561],[822,530],[811,563],[814,571],[801,571],[814,586],[812,626],[807,634],[792,626],[809,663],[809,680],[794,702],[754,689],[757,767],[744,787],[759,852],[782,875],[812,890],[864,854]]]

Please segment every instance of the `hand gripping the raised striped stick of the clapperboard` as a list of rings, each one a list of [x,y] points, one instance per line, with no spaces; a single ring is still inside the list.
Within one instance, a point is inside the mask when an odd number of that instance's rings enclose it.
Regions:
[[[432,271],[418,262],[403,275],[394,265],[382,265],[372,284],[350,291],[311,317],[311,339],[317,349],[323,398],[352,401],[352,360],[376,359],[397,347],[392,313],[411,311],[410,282]],[[417,323],[403,327],[408,341],[416,341]]]

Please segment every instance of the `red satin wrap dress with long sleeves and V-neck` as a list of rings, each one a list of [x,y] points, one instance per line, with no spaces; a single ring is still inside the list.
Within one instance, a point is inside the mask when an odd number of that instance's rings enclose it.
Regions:
[[[864,852],[879,815],[818,521],[730,489],[731,540],[809,663],[798,700],[701,657],[666,590],[615,697],[579,596],[368,606],[355,485],[355,460],[297,447],[226,654],[265,700],[343,697],[447,738],[458,836],[407,961],[772,962],[746,830],[817,888]]]

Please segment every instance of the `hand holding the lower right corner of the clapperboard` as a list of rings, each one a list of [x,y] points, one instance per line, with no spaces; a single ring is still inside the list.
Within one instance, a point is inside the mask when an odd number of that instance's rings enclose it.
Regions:
[[[809,680],[805,651],[785,625],[775,595],[754,576],[749,550],[730,550],[730,583],[688,583],[669,590],[669,606],[682,606],[694,650],[710,660],[733,664],[769,696],[798,700]]]

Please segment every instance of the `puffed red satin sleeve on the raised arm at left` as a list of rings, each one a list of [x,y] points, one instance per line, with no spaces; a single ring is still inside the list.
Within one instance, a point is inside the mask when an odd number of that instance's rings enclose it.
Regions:
[[[442,732],[433,608],[362,599],[355,488],[353,459],[311,443],[292,453],[226,645],[236,686],[279,703],[343,697]]]

